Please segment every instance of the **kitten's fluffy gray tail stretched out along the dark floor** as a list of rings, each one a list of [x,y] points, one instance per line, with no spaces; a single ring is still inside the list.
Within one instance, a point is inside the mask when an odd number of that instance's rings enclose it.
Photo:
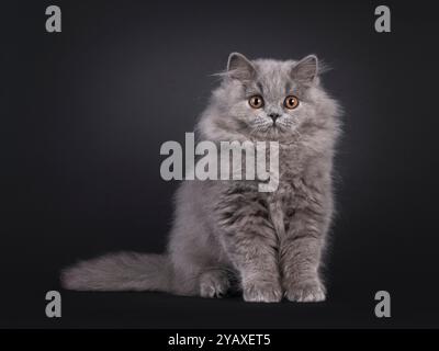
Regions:
[[[110,253],[79,262],[61,273],[61,285],[77,291],[170,292],[171,263],[166,254]]]

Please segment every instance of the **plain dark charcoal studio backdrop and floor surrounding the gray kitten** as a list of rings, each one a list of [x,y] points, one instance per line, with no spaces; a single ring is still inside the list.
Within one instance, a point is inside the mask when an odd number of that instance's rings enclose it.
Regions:
[[[16,1],[1,5],[1,327],[438,327],[437,12],[373,1]],[[416,3],[416,4],[415,4]],[[58,4],[63,32],[45,31]],[[345,107],[322,304],[63,291],[59,270],[109,251],[160,252],[183,141],[230,52],[311,53]],[[63,317],[45,316],[59,290]],[[374,294],[392,317],[374,316]]]

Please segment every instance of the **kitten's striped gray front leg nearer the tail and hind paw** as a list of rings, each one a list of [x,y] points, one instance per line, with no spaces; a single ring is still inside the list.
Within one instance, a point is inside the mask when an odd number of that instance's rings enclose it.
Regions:
[[[217,210],[222,244],[239,273],[244,299],[281,301],[278,242],[267,204],[238,191],[236,196],[229,192]]]

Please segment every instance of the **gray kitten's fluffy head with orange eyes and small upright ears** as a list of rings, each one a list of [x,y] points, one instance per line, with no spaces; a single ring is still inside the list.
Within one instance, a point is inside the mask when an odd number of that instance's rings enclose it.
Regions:
[[[282,143],[330,127],[337,104],[320,87],[320,72],[315,55],[280,61],[233,53],[199,127],[210,139]]]

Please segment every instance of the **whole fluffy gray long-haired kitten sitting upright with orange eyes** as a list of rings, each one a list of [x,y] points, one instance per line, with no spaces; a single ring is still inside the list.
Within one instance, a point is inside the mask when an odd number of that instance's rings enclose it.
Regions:
[[[331,171],[339,107],[319,83],[318,61],[234,53],[196,126],[204,140],[280,144],[280,183],[184,181],[164,254],[116,253],[63,272],[66,288],[164,291],[247,302],[325,299],[319,276],[333,216]]]

